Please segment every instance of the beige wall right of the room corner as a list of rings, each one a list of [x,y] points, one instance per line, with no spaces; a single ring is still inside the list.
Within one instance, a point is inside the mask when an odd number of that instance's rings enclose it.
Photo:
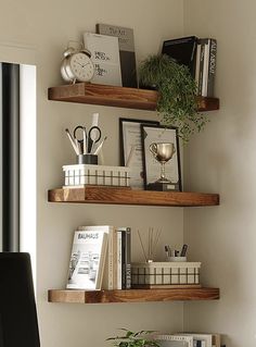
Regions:
[[[184,306],[190,330],[227,334],[227,345],[253,347],[256,339],[256,3],[253,0],[185,0],[187,35],[218,40],[220,111],[191,141],[187,189],[220,194],[220,207],[184,212],[184,239],[203,262],[205,284],[220,287],[218,302]]]

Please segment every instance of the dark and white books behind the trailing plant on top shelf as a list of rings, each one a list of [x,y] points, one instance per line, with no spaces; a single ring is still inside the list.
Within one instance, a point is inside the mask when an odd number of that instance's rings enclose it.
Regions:
[[[162,53],[188,66],[195,78],[199,96],[215,96],[216,39],[189,36],[166,40],[163,44]]]

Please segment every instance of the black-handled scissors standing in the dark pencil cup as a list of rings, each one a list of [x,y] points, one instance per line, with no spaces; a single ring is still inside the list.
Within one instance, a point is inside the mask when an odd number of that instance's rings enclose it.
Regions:
[[[81,132],[80,135],[77,134],[78,131],[79,133]],[[74,138],[75,141],[78,144],[78,148],[80,148],[82,154],[93,154],[93,147],[101,139],[101,129],[99,126],[91,126],[89,132],[87,133],[85,126],[78,125],[74,129]]]

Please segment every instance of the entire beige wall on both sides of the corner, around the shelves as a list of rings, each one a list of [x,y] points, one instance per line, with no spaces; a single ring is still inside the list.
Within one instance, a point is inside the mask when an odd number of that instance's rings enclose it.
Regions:
[[[159,5],[161,4],[161,5]],[[183,11],[184,10],[184,11]],[[65,127],[89,122],[94,111],[108,135],[105,159],[117,164],[118,116],[154,119],[152,112],[51,102],[47,89],[61,82],[59,66],[68,39],[80,39],[97,22],[133,27],[138,59],[163,39],[185,34],[218,39],[217,90],[221,110],[187,148],[188,189],[220,193],[221,206],[185,209],[184,238],[193,260],[203,262],[204,284],[221,288],[220,301],[185,303],[188,330],[227,334],[229,346],[255,345],[255,285],[252,264],[254,213],[254,1],[77,0],[1,1],[0,58],[36,62],[38,72],[37,296],[42,346],[104,345],[117,327],[182,329],[183,305],[53,305],[48,288],[65,285],[73,230],[79,224],[163,227],[165,241],[182,243],[183,210],[152,207],[53,205],[47,189],[62,185],[61,166],[73,162]],[[184,24],[184,25],[183,25]],[[10,48],[11,47],[11,48]],[[31,231],[33,233],[34,231]],[[141,259],[133,236],[133,259]],[[161,252],[161,251],[159,251]]]

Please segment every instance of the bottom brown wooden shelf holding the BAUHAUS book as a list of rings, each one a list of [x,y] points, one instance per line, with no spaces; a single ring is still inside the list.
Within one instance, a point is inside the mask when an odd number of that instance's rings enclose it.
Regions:
[[[49,302],[106,303],[171,300],[216,300],[219,288],[171,288],[129,290],[60,290],[48,292]]]

